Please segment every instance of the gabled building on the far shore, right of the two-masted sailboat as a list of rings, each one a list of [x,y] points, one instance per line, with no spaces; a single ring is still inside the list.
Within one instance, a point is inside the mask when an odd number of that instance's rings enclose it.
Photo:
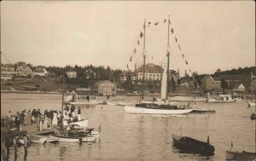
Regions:
[[[221,80],[220,78],[212,78],[212,76],[206,76],[201,80],[202,89],[221,89]]]

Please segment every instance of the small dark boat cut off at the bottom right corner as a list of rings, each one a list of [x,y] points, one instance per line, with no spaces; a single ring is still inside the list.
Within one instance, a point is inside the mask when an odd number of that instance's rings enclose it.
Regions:
[[[237,160],[237,161],[245,161],[245,160],[255,160],[256,153],[255,152],[230,152],[226,151],[226,160]]]

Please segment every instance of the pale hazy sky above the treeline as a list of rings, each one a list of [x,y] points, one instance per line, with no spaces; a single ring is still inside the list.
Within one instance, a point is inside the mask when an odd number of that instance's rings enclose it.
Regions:
[[[134,70],[146,20],[146,63],[165,66],[168,15],[173,70],[255,66],[253,1],[2,1],[1,61]]]

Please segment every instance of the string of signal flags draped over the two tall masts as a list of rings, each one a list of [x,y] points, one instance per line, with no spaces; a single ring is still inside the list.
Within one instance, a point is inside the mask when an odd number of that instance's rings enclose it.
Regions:
[[[152,26],[160,26],[160,25],[165,25],[166,24],[166,22],[167,22],[167,20],[168,19],[164,19],[164,20],[161,20],[161,21],[148,21],[148,22],[146,22],[145,23],[145,25],[143,24],[143,27],[152,27]],[[171,20],[168,20],[169,21],[169,24],[171,24],[172,25],[172,23],[171,23]],[[142,41],[142,39],[143,39],[143,37],[144,37],[144,34],[143,34],[143,28],[142,27],[142,30],[141,30],[141,32],[139,32],[139,37],[138,37],[138,39],[137,39],[137,46],[133,49],[133,52],[132,52],[132,54],[131,54],[131,57],[130,57],[130,60],[129,60],[129,63],[130,62],[132,62],[132,58],[133,58],[133,56],[135,55],[135,54],[137,54],[137,49],[140,47],[140,44],[141,44],[141,41]],[[186,64],[186,66],[189,66],[189,62],[186,60],[186,58],[185,58],[185,55],[183,54],[183,50],[182,50],[182,48],[181,48],[181,45],[178,43],[178,41],[177,41],[177,36],[176,36],[176,32],[174,31],[174,29],[173,29],[173,27],[171,26],[170,27],[171,29],[170,29],[170,32],[171,32],[171,34],[172,34],[172,37],[174,37],[174,40],[175,40],[175,43],[177,43],[177,48],[179,49],[179,51],[180,51],[180,54],[181,54],[181,56],[182,56],[182,59],[184,60],[184,63]],[[168,53],[170,53],[170,49],[169,49],[170,47],[168,46]],[[153,56],[151,56],[151,59],[153,60]],[[126,67],[127,67],[127,69],[128,69],[128,71],[130,71],[130,68],[129,68],[129,63],[127,63],[127,65],[126,65]],[[191,70],[189,69],[189,72],[192,74],[192,72],[191,72]]]

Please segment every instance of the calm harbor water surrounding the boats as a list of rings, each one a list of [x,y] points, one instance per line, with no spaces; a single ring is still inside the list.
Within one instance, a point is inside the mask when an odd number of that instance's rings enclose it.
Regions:
[[[112,99],[112,101],[111,101]],[[110,101],[134,101],[139,97],[116,96]],[[98,102],[106,97],[97,97]],[[82,117],[89,118],[90,127],[102,124],[100,141],[94,143],[46,143],[28,147],[27,160],[225,160],[225,151],[255,152],[255,121],[250,119],[254,109],[247,108],[247,101],[236,103],[197,102],[194,106],[216,110],[214,114],[189,114],[179,116],[128,114],[122,106],[97,105],[83,107]],[[61,110],[61,95],[1,94],[1,115],[9,110],[24,109]],[[172,134],[190,136],[210,142],[215,155],[204,157],[186,154],[172,147]],[[18,160],[24,156],[18,148]],[[14,149],[10,149],[10,160]]]

